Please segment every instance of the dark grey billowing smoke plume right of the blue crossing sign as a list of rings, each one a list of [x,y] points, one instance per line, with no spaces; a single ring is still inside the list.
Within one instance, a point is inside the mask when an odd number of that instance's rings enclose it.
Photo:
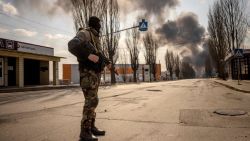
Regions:
[[[197,15],[182,13],[176,21],[163,24],[156,33],[165,43],[176,45],[181,50],[183,61],[196,68],[204,66],[208,47],[202,45],[205,28],[199,24]]]

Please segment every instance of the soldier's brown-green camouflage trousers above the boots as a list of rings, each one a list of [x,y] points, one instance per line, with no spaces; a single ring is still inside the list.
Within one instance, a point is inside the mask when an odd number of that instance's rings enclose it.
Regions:
[[[81,128],[91,128],[91,122],[96,117],[95,109],[98,105],[98,87],[100,84],[100,73],[91,70],[80,71],[80,85],[85,98],[83,106]]]

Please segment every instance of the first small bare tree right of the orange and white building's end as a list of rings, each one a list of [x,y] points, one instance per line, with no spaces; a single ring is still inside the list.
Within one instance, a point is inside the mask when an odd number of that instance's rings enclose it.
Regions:
[[[170,73],[170,79],[173,80],[175,60],[174,60],[174,54],[172,51],[167,50],[166,55],[165,55],[165,63],[166,63],[166,69]]]

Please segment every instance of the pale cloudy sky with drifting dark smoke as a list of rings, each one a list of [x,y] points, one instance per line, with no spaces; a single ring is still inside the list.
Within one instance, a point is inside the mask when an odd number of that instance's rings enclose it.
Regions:
[[[195,66],[202,65],[203,37],[207,33],[207,14],[215,0],[118,0],[121,29],[131,27],[142,18],[149,22],[149,30],[159,40],[157,63],[166,70],[164,56],[172,50],[190,60]],[[67,51],[67,42],[74,37],[75,28],[69,0],[0,0],[0,38],[7,38],[54,48],[55,56],[65,57],[62,64],[77,63]],[[247,5],[250,15],[250,3]],[[169,28],[170,27],[170,28]],[[183,32],[176,32],[183,29]],[[146,32],[141,33],[143,37]],[[245,45],[250,46],[250,32]],[[126,33],[121,33],[119,50],[126,48]],[[180,46],[178,43],[184,45]],[[178,43],[177,43],[178,42]],[[144,51],[140,45],[140,63]],[[203,59],[204,60],[204,59]],[[119,63],[119,61],[118,61]]]

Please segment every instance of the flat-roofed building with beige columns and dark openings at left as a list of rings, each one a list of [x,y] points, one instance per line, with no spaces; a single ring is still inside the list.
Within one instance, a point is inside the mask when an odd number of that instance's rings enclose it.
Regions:
[[[0,38],[0,86],[49,85],[49,62],[53,62],[53,84],[59,84],[54,49]]]

